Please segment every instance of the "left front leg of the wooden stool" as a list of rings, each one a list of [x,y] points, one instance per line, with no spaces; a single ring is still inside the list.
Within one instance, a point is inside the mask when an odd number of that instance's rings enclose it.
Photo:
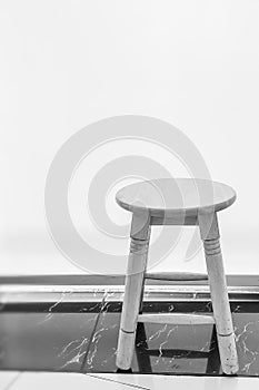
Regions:
[[[116,360],[117,367],[122,370],[128,370],[131,367],[133,357],[150,236],[149,214],[135,213],[132,215],[130,236],[130,254]]]

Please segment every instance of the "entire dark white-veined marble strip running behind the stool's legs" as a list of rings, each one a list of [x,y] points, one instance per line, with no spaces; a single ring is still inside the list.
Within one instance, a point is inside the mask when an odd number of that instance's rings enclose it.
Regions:
[[[239,376],[259,377],[259,304],[232,302]],[[116,372],[120,302],[4,305],[0,369]],[[143,312],[211,312],[208,302],[146,302]],[[139,324],[132,371],[221,376],[215,326]]]

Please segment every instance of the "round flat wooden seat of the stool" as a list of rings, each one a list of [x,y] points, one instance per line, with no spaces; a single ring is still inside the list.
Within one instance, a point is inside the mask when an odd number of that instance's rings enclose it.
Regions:
[[[117,203],[130,211],[149,211],[151,216],[173,217],[185,213],[218,212],[229,207],[236,192],[228,185],[200,178],[160,178],[135,183],[121,188]]]

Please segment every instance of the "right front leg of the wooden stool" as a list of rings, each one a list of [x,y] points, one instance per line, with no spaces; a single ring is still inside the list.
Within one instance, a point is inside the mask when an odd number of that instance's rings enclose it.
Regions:
[[[199,215],[198,220],[205,247],[220,361],[223,372],[231,376],[238,371],[238,355],[220,250],[217,214]]]

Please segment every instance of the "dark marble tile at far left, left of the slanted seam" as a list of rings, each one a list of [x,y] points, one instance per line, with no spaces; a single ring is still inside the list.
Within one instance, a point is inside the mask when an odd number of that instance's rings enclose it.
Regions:
[[[2,313],[0,369],[80,371],[97,314]]]

